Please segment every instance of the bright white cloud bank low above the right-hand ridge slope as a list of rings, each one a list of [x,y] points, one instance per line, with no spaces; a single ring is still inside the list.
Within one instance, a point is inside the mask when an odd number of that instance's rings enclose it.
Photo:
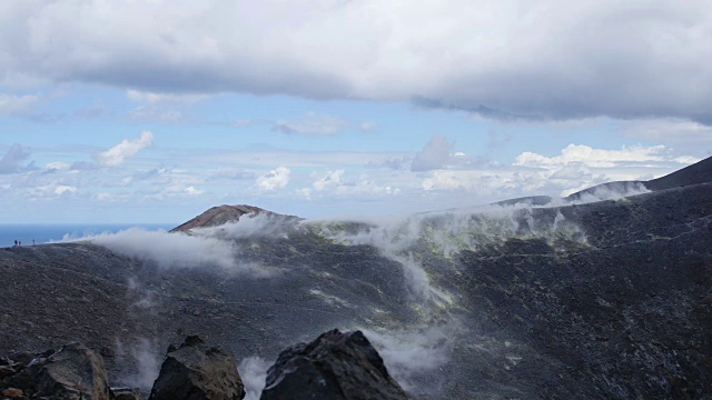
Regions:
[[[610,181],[653,179],[696,161],[695,157],[674,156],[664,146],[609,150],[570,144],[553,157],[525,151],[511,166],[434,170],[423,177],[421,189],[490,201],[534,194],[565,197]],[[629,189],[622,192],[637,192]]]

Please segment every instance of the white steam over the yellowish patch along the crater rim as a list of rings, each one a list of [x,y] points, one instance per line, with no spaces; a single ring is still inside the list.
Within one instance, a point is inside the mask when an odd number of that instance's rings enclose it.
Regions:
[[[429,254],[449,259],[464,250],[500,244],[511,238],[543,238],[548,243],[566,239],[585,243],[581,228],[561,212],[535,216],[531,202],[491,204],[471,209],[412,214],[363,222],[312,222],[326,238],[343,244],[373,246],[397,261],[411,292],[438,308],[452,297],[433,283],[441,274],[425,260]]]

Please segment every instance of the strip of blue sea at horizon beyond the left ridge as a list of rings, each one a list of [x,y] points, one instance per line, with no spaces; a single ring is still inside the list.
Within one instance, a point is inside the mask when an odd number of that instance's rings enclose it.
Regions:
[[[0,224],[0,248],[12,247],[16,240],[21,241],[22,246],[32,246],[32,240],[36,244],[41,244],[103,232],[116,233],[135,227],[146,230],[170,230],[177,226],[178,223]]]

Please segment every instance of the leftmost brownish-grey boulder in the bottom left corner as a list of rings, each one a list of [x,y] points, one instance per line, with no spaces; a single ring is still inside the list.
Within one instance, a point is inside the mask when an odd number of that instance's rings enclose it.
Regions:
[[[82,343],[38,354],[4,383],[32,398],[109,400],[103,359]]]

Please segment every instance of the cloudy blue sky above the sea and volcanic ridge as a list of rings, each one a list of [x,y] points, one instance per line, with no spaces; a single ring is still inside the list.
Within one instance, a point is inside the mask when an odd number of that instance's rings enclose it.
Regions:
[[[566,196],[712,156],[712,2],[0,2],[0,223]]]

